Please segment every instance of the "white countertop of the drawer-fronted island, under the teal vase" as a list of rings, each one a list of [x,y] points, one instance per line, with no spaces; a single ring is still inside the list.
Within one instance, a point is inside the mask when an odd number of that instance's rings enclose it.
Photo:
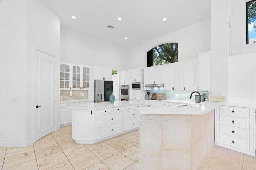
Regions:
[[[88,103],[84,105],[76,105],[73,106],[73,110],[96,110],[96,109],[108,109],[113,107],[124,107],[130,105],[141,105],[140,102],[135,101],[114,101],[114,103],[110,102],[100,102],[100,103]]]

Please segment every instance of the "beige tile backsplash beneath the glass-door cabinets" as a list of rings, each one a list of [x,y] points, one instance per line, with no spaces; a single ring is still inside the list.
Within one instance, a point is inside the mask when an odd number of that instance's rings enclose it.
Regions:
[[[88,99],[88,90],[71,90],[71,91],[72,91],[72,96],[70,96],[70,90],[60,90],[60,96],[62,96],[63,101]],[[82,93],[84,93],[84,96],[82,96]]]

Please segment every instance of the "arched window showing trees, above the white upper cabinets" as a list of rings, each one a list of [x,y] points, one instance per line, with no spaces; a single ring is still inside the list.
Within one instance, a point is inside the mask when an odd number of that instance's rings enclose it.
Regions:
[[[164,43],[147,52],[147,67],[178,62],[178,43]]]

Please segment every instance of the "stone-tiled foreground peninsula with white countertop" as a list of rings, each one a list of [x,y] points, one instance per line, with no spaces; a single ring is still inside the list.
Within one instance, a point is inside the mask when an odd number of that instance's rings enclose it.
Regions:
[[[214,109],[223,102],[142,107],[141,170],[197,170],[214,146]]]

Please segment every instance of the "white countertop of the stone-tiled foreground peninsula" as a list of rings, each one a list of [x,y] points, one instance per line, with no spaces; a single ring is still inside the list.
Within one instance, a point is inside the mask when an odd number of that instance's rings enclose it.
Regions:
[[[141,107],[140,114],[148,115],[204,115],[225,102],[204,101],[184,107]]]

